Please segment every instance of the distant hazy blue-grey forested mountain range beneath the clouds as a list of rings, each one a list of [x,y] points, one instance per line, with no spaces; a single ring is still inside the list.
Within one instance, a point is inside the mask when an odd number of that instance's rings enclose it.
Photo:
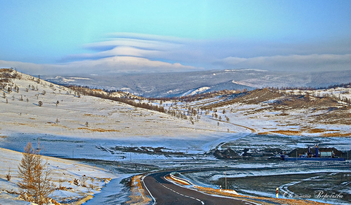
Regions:
[[[121,90],[143,97],[185,96],[219,90],[254,90],[261,87],[323,87],[351,82],[351,70],[281,72],[257,69],[171,73],[101,73],[42,76],[56,84]]]

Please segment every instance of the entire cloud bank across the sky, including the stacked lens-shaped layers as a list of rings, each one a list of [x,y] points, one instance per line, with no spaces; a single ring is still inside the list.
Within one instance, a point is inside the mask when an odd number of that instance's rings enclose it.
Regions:
[[[308,43],[194,40],[171,36],[112,33],[86,44],[93,51],[67,55],[62,63],[0,61],[0,68],[29,73],[176,72],[203,69],[266,69],[277,71],[351,70],[351,40]]]

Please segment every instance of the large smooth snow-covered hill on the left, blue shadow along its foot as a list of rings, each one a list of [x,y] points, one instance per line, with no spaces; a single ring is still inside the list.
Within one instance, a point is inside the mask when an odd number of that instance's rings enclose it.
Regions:
[[[14,76],[15,71],[0,72],[2,79],[9,79],[4,83],[5,98],[0,98],[0,135],[4,136],[0,147],[21,151],[27,141],[40,137],[48,148],[45,155],[69,157],[72,153],[66,150],[76,147],[80,151],[75,157],[115,160],[126,158],[118,147],[164,147],[170,152],[190,149],[202,153],[225,139],[249,133],[229,124],[218,127],[216,120],[208,118],[193,125],[189,119],[157,111],[92,96],[79,97],[71,89],[45,80],[38,83],[38,78],[21,73]]]

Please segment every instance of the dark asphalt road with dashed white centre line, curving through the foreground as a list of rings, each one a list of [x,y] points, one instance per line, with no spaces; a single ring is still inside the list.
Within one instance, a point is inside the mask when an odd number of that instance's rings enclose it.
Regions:
[[[187,189],[167,181],[164,176],[170,172],[157,172],[144,178],[144,189],[151,193],[156,205],[254,205],[251,202],[216,197]]]

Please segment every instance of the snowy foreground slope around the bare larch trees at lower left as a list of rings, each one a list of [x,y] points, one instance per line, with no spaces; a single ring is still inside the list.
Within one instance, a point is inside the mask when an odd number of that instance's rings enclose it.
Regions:
[[[34,145],[35,146],[35,145]],[[0,204],[20,204],[27,205],[30,203],[18,200],[16,183],[20,180],[18,176],[18,165],[22,158],[22,153],[17,151],[0,148]],[[87,164],[77,163],[76,161],[64,160],[54,157],[43,157],[48,160],[48,168],[52,170],[54,184],[59,187],[59,181],[62,181],[61,190],[57,189],[52,193],[52,198],[57,202],[64,204],[75,203],[77,200],[85,198],[87,195],[99,193],[100,189],[110,182],[111,178],[118,178],[118,174],[112,174],[104,169],[97,168]],[[11,180],[7,181],[6,174],[10,168]],[[87,187],[73,184],[74,179],[82,182],[83,176],[87,178]],[[91,180],[93,179],[93,181]],[[89,185],[93,183],[93,188]]]

